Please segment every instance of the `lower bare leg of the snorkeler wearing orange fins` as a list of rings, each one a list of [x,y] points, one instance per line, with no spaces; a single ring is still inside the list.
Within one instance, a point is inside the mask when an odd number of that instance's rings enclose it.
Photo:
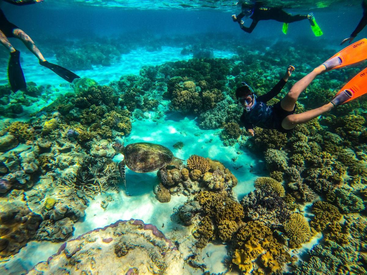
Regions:
[[[322,115],[323,113],[330,111],[333,108],[334,108],[334,104],[329,102],[325,104],[324,106],[321,106],[313,110],[306,111],[301,114],[288,115],[281,122],[281,126],[287,130],[293,129],[298,124],[309,122],[310,120],[313,120],[314,118],[318,117],[319,115]]]

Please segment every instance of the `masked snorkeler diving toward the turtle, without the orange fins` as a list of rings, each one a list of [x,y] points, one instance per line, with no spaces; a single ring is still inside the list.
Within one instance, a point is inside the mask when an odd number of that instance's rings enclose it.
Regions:
[[[338,66],[343,66],[338,56],[327,60],[295,83],[288,94],[273,106],[269,106],[266,103],[280,93],[281,89],[288,81],[288,78],[295,70],[294,66],[288,67],[285,76],[270,92],[258,98],[251,87],[243,82],[243,86],[236,89],[236,99],[237,103],[244,109],[240,121],[245,126],[247,133],[254,136],[254,126],[265,129],[276,129],[283,133],[291,132],[298,124],[309,122],[352,98],[351,92],[345,90],[319,108],[295,114],[297,107],[296,102],[301,92],[304,91],[317,76]]]

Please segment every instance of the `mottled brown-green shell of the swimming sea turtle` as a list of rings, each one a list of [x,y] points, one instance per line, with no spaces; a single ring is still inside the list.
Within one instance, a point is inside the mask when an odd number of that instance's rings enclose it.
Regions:
[[[125,147],[124,155],[126,166],[137,173],[160,169],[169,164],[173,158],[170,149],[149,142],[128,144]]]

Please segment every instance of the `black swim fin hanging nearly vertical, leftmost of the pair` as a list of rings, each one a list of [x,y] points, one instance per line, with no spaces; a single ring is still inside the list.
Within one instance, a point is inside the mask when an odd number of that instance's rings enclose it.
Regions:
[[[21,67],[21,62],[19,61],[20,54],[21,53],[17,50],[10,53],[8,78],[13,92],[16,92],[18,90],[25,90],[27,88],[27,84],[25,83],[25,78]]]

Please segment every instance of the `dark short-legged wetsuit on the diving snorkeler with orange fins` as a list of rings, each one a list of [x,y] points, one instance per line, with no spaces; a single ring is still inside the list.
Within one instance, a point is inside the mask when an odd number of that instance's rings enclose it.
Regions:
[[[254,126],[259,126],[264,129],[276,129],[283,133],[292,131],[292,129],[284,129],[281,126],[281,122],[288,115],[294,114],[296,106],[293,111],[286,111],[280,106],[280,101],[273,106],[266,105],[266,102],[280,93],[284,85],[286,85],[286,81],[282,78],[270,92],[256,98],[256,105],[251,111],[247,112],[243,110],[240,121],[245,126],[246,131],[248,129],[254,129]]]

